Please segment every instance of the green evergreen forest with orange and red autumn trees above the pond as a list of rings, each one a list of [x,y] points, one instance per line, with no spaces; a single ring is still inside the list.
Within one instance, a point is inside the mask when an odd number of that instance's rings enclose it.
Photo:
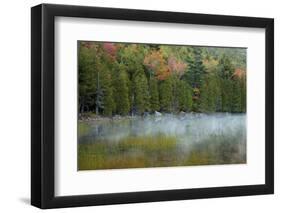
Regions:
[[[245,113],[246,51],[78,41],[79,114]]]

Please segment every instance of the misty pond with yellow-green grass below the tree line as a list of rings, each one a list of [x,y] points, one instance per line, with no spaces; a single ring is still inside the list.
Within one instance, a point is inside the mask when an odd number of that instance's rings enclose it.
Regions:
[[[78,170],[246,163],[245,114],[101,118],[78,127]]]

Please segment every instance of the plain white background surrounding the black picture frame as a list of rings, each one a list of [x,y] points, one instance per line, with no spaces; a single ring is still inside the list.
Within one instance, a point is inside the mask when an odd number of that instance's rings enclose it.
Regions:
[[[150,10],[275,18],[275,195],[201,199],[50,210],[51,212],[278,212],[281,209],[281,13],[276,0],[45,0]],[[37,0],[3,1],[0,7],[0,211],[39,212],[30,197],[30,7]],[[280,211],[280,210],[279,210]]]

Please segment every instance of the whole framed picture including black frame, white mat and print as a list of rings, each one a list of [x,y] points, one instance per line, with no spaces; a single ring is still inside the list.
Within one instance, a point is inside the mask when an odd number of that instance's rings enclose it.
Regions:
[[[31,204],[272,194],[274,20],[31,9]]]

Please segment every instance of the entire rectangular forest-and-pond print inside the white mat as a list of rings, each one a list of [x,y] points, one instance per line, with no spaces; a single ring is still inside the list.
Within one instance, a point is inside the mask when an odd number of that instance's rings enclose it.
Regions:
[[[78,170],[246,163],[246,54],[78,41]]]

